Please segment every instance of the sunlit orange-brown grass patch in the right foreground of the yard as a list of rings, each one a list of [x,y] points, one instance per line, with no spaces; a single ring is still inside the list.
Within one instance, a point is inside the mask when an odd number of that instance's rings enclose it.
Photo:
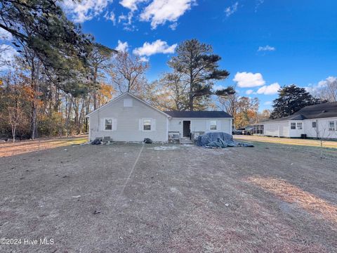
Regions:
[[[264,190],[277,195],[277,197],[289,203],[296,203],[305,211],[314,214],[320,219],[326,219],[337,224],[337,207],[322,200],[315,195],[293,186],[290,183],[272,178],[250,177],[249,182],[260,186]]]

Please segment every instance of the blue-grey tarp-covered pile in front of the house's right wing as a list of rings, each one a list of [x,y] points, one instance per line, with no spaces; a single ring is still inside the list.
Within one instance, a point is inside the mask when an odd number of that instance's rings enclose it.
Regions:
[[[202,147],[253,147],[249,143],[235,143],[233,136],[223,132],[206,133],[198,136],[197,145]]]

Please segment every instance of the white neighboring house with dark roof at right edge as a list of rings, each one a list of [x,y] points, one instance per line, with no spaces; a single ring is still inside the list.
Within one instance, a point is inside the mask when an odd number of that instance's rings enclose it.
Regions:
[[[309,105],[293,115],[260,122],[253,134],[298,138],[337,138],[337,102]]]

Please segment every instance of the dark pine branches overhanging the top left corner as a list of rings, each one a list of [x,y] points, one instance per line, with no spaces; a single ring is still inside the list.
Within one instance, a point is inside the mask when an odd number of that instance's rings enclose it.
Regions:
[[[0,9],[0,28],[13,35],[13,45],[34,51],[47,70],[67,69],[67,58],[85,62],[92,38],[67,20],[55,1],[0,0]]]

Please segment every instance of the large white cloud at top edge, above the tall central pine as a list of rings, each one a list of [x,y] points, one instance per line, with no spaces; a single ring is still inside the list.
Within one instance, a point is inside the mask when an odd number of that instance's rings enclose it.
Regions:
[[[195,0],[153,0],[140,14],[140,20],[150,21],[152,29],[164,25],[166,21],[176,22],[190,10]]]

